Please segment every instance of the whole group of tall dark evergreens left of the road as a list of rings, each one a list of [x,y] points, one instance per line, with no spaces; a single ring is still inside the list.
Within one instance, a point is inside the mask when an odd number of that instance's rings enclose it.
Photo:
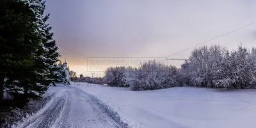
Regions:
[[[45,1],[0,1],[0,104],[4,92],[44,94],[65,78],[48,19]]]

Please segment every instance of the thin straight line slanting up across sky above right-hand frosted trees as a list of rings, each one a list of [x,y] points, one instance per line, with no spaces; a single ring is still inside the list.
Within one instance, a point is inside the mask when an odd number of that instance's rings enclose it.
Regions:
[[[207,43],[207,42],[209,42],[209,41],[212,41],[212,40],[214,40],[214,39],[220,38],[221,36],[225,36],[225,35],[230,34],[230,33],[232,33],[232,32],[238,31],[239,29],[243,29],[244,27],[248,27],[249,25],[252,25],[252,24],[254,24],[254,23],[244,25],[243,27],[239,27],[239,28],[234,29],[234,30],[232,30],[232,31],[230,31],[230,32],[227,32],[227,33],[225,33],[225,34],[221,34],[220,36],[217,36],[217,37],[215,37],[215,38],[208,39],[207,41],[204,41],[203,43],[198,43],[197,45],[191,46],[191,47],[186,48],[186,49],[184,49],[184,50],[180,50],[179,52],[175,52],[175,53],[173,53],[172,55],[176,55],[177,53],[184,52],[184,51],[186,51],[186,50],[189,50],[190,48],[194,48],[194,47],[196,47],[196,46],[198,46],[198,45],[202,45],[202,44]],[[170,57],[170,56],[172,56],[172,55],[169,55],[168,57]]]

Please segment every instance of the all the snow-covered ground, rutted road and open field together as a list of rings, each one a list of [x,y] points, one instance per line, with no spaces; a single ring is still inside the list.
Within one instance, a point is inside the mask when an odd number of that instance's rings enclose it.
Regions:
[[[13,127],[254,128],[256,90],[131,91],[90,83],[50,87],[47,104]]]

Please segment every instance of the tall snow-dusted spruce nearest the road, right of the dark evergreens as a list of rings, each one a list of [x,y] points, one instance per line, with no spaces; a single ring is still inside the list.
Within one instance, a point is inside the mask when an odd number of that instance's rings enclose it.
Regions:
[[[40,43],[40,48],[36,53],[36,81],[42,83],[43,86],[33,86],[33,90],[36,92],[44,93],[47,90],[49,83],[54,82],[54,77],[58,78],[58,75],[54,76],[55,71],[60,71],[60,68],[56,67],[56,62],[60,53],[57,52],[58,46],[56,46],[56,41],[53,39],[53,33],[51,32],[51,27],[47,24],[49,19],[49,14],[44,16],[45,1],[42,0],[31,0],[33,3],[39,4],[41,8],[35,8],[36,18],[38,19],[38,32],[42,42]],[[36,5],[33,4],[33,5]]]

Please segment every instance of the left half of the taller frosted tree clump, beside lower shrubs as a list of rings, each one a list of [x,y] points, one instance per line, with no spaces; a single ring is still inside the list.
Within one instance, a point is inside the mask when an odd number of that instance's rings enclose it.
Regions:
[[[213,87],[216,78],[216,69],[220,68],[220,62],[226,49],[219,45],[202,46],[196,48],[189,57],[189,62],[182,65],[180,73],[186,79],[186,85]],[[215,75],[215,76],[214,76]]]

